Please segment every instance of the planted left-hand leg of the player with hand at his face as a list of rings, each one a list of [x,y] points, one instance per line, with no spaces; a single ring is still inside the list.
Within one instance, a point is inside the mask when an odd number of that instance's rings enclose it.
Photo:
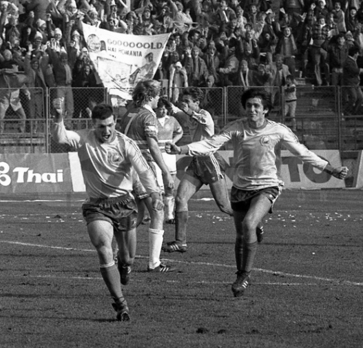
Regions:
[[[203,183],[198,178],[184,174],[175,198],[175,240],[163,247],[164,252],[187,251],[188,201],[202,186]]]

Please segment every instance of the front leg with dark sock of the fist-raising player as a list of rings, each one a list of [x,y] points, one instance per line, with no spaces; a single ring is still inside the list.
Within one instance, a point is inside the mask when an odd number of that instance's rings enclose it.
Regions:
[[[129,309],[123,297],[120,273],[112,252],[114,227],[109,221],[96,220],[87,224],[87,232],[98,254],[103,281],[114,299],[113,306],[117,311],[117,318],[121,321],[129,320]]]

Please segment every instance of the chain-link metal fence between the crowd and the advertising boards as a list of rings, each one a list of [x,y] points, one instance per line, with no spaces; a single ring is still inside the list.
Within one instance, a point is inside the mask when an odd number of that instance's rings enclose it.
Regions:
[[[214,119],[216,132],[230,121],[245,116],[240,105],[244,89],[203,88],[205,99],[201,108]],[[182,92],[181,90],[179,92]],[[295,119],[287,113],[289,106],[283,88],[269,89],[273,110],[269,118],[294,128],[295,134],[311,150],[363,149],[363,110],[351,108],[354,96],[349,87],[297,86]],[[105,88],[23,88],[0,89],[0,153],[56,153],[71,151],[68,146],[52,141],[52,100],[63,98],[65,125],[70,130],[92,127],[90,113],[96,103],[114,105],[115,113],[125,114],[122,94]],[[181,120],[180,120],[181,121]],[[180,143],[189,143],[186,125]],[[224,150],[228,150],[227,145]]]

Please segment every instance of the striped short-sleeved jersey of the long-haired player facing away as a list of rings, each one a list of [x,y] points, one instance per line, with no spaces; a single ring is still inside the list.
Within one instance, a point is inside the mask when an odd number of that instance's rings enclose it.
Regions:
[[[147,106],[127,112],[121,121],[121,132],[133,139],[147,161],[154,161],[147,145],[147,136],[158,138],[156,114]]]

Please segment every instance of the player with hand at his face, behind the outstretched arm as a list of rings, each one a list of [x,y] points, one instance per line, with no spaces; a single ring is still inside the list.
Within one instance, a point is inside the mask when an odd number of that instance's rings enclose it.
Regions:
[[[214,134],[211,114],[200,108],[203,99],[203,90],[198,87],[183,90],[180,110],[188,116],[187,125],[192,141],[200,141]],[[176,192],[175,240],[163,246],[164,252],[187,251],[188,201],[203,185],[209,185],[219,209],[233,215],[229,203],[225,165],[225,160],[217,153],[193,157]]]

